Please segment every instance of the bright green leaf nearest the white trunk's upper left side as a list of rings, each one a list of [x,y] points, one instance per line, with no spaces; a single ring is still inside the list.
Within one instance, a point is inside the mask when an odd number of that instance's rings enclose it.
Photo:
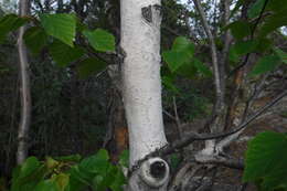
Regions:
[[[100,52],[115,52],[115,36],[103,29],[83,31],[91,45]]]

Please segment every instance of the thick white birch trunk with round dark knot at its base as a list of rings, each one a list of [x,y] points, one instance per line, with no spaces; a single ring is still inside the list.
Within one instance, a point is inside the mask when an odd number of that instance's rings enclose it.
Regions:
[[[129,131],[129,190],[164,190],[169,167],[160,158],[138,162],[167,145],[160,81],[160,0],[120,1],[123,95]],[[135,168],[136,167],[136,168]],[[157,173],[156,173],[157,172]]]

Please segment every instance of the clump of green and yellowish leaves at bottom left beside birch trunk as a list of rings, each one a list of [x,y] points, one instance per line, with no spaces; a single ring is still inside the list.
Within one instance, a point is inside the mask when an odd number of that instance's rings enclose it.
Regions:
[[[104,191],[121,191],[126,183],[123,168],[127,168],[127,153],[118,165],[109,162],[106,150],[83,158],[79,155],[46,157],[39,161],[29,157],[13,170],[11,191],[81,191],[91,188]]]

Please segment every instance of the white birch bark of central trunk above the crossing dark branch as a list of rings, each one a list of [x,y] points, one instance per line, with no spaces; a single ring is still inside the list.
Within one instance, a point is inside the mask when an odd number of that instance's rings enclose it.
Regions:
[[[167,144],[160,82],[160,17],[147,22],[141,8],[160,0],[121,0],[124,103],[129,127],[130,166]]]

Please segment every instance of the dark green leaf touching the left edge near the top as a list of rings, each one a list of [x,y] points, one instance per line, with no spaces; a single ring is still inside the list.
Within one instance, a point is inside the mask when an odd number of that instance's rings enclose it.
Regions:
[[[21,18],[17,14],[7,14],[0,19],[0,43],[9,32],[12,32],[29,21],[28,18]]]

